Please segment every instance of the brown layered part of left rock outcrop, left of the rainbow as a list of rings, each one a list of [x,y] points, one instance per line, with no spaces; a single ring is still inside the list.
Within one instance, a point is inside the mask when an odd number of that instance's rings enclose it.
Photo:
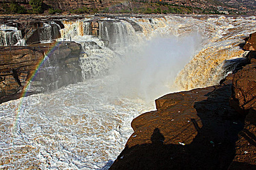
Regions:
[[[31,48],[0,48],[0,98],[14,95],[27,86],[43,53]]]

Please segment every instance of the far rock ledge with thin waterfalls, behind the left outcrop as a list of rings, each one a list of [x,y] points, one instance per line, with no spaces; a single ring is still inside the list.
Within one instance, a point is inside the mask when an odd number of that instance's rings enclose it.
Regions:
[[[111,18],[115,18],[118,16],[108,16]],[[13,17],[0,17],[0,23],[3,23],[1,26],[6,30],[0,30],[0,46],[13,46],[13,45],[29,45],[33,43],[38,43],[39,41],[51,41],[58,40],[61,37],[60,29],[63,29],[65,26],[63,23],[69,23],[69,21],[77,21],[79,19],[84,19],[84,17],[79,16],[66,16],[66,17],[21,17],[20,20]],[[136,32],[141,32],[142,28],[134,21],[129,19],[122,19],[129,22]],[[87,22],[88,27],[83,26],[81,30],[88,29],[88,33],[79,33],[79,34],[89,34],[93,36],[99,36],[99,38],[103,41],[109,41],[109,43],[115,42],[115,34],[116,32],[115,25],[119,20],[102,20],[100,18],[92,18]],[[102,27],[100,28],[100,24]],[[108,30],[109,33],[105,33],[104,29]],[[14,31],[13,29],[17,29]],[[99,35],[99,32],[103,34]],[[17,34],[17,32],[20,34]],[[109,37],[108,35],[113,35]],[[70,35],[72,36],[72,35]]]

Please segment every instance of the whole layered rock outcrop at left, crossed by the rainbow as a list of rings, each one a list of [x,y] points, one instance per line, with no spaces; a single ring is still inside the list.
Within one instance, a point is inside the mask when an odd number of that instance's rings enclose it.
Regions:
[[[0,48],[0,103],[82,81],[80,53],[75,42]]]

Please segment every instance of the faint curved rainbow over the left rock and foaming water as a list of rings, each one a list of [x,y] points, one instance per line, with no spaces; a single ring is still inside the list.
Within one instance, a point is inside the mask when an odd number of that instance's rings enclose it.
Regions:
[[[61,42],[56,42],[56,43],[51,43],[51,45],[53,45],[53,47],[51,49],[49,49],[48,51],[44,51],[44,57],[42,57],[42,59],[39,61],[39,63],[37,64],[35,70],[32,72],[31,76],[28,78],[28,84],[23,87],[22,92],[19,95],[19,98],[21,98],[20,103],[18,105],[18,108],[16,109],[16,114],[15,114],[15,124],[13,126],[13,135],[17,134],[18,132],[18,121],[19,121],[19,116],[20,114],[24,113],[24,109],[22,109],[23,106],[23,97],[28,96],[28,89],[30,87],[30,82],[32,82],[34,80],[34,78],[36,77],[40,67],[43,65],[43,63],[48,60],[48,56],[52,56],[53,52],[58,48],[59,44]],[[49,47],[49,46],[48,46]],[[45,53],[46,52],[46,53]],[[15,133],[15,134],[14,134]]]

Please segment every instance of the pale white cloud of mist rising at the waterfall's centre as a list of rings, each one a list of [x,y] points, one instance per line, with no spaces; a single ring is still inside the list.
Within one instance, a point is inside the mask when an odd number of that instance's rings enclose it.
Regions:
[[[158,97],[178,91],[174,85],[177,73],[190,61],[201,38],[156,37],[137,50],[129,51],[110,72],[117,77],[111,89],[116,95],[141,98],[152,102]]]

